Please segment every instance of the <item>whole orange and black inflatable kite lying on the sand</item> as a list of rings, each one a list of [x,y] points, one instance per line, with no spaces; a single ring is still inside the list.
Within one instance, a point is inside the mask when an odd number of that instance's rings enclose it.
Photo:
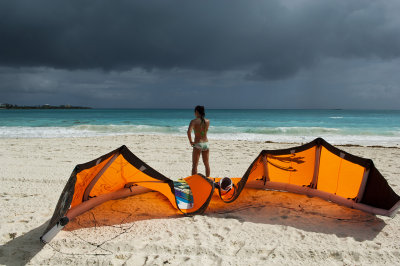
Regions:
[[[321,138],[299,147],[263,150],[242,178],[222,180],[197,174],[173,181],[121,146],[75,167],[40,239],[48,243],[69,220],[108,200],[158,191],[180,212],[193,215],[205,211],[215,189],[229,203],[245,187],[317,196],[385,216],[395,215],[400,207],[399,195],[372,160],[344,152]]]

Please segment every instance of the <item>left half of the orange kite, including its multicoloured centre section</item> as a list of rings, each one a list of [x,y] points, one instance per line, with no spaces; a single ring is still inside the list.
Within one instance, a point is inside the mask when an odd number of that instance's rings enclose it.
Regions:
[[[200,174],[173,181],[123,145],[75,167],[41,240],[49,242],[69,220],[105,201],[150,191],[162,193],[183,214],[197,214],[207,208],[214,182]]]

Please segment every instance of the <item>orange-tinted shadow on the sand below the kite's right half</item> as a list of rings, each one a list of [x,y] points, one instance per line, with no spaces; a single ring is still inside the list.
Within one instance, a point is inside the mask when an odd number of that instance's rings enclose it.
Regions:
[[[317,197],[289,192],[245,189],[230,205],[213,199],[207,215],[219,218],[290,226],[300,230],[373,240],[386,226],[379,217]]]

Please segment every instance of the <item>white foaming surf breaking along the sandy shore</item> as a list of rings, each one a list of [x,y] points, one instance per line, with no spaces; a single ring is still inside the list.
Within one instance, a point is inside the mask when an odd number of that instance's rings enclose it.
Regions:
[[[0,138],[69,138],[118,135],[185,136],[187,126],[75,125],[69,127],[2,126]],[[211,126],[210,139],[304,143],[323,137],[332,144],[398,146],[400,130],[327,127],[235,127]]]

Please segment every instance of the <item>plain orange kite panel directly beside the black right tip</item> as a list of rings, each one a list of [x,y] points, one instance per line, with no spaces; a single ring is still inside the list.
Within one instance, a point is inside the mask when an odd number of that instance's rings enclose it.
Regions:
[[[364,171],[364,167],[343,159],[340,167],[336,195],[345,198],[357,197],[364,176]]]

